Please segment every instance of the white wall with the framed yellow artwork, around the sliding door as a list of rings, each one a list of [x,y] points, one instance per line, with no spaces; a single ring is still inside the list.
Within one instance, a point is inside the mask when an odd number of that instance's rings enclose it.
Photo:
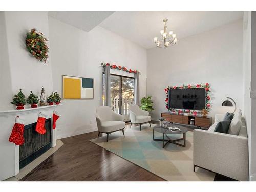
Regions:
[[[62,75],[94,78],[94,99],[62,101],[63,106],[58,109],[62,116],[57,123],[57,138],[96,130],[95,111],[101,105],[102,96],[102,62],[141,71],[141,97],[146,95],[144,48],[101,27],[84,32],[50,16],[49,30],[53,90],[61,93]]]

